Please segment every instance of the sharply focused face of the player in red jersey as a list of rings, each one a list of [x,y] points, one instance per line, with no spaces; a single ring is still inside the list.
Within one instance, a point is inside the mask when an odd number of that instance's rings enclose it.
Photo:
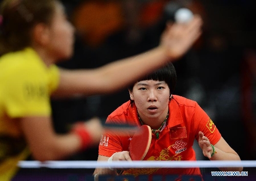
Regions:
[[[169,92],[169,87],[164,81],[146,80],[134,85],[130,97],[134,100],[143,121],[163,121],[168,112]]]

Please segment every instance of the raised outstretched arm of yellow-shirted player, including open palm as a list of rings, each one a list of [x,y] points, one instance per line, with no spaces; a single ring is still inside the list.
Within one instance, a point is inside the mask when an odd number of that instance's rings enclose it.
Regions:
[[[201,25],[199,16],[187,24],[168,24],[160,45],[143,54],[90,70],[61,70],[54,95],[105,94],[125,88],[144,74],[183,56],[201,35]]]

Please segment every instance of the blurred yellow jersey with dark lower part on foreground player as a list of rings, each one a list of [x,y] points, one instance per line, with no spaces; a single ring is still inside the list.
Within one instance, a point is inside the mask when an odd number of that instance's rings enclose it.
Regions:
[[[0,180],[11,180],[18,161],[30,154],[15,118],[51,116],[58,83],[57,66],[47,67],[32,48],[0,57]]]

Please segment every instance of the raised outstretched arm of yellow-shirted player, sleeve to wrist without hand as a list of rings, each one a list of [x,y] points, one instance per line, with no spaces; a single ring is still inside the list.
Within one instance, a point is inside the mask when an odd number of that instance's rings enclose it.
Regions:
[[[54,95],[92,95],[113,93],[126,88],[139,77],[170,61],[166,49],[157,47],[144,54],[125,58],[102,67],[86,70],[61,70]]]

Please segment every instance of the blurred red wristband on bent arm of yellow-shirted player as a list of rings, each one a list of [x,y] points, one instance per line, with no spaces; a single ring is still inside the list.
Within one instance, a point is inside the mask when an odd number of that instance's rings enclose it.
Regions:
[[[74,127],[72,128],[72,133],[79,136],[81,139],[81,149],[86,149],[93,143],[93,138],[86,130],[83,122],[75,123]]]

